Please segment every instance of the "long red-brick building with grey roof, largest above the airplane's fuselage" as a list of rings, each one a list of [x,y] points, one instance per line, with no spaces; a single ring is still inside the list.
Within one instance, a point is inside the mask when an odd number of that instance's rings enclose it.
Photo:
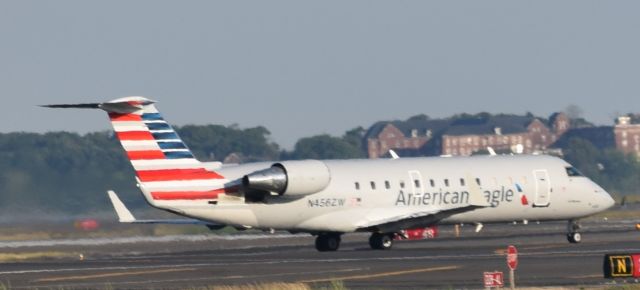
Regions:
[[[389,149],[402,156],[468,156],[492,147],[510,151],[518,144],[523,153],[544,151],[569,130],[563,113],[549,121],[534,116],[478,114],[451,119],[430,120],[414,117],[407,121],[378,122],[367,132],[369,158],[379,158]]]

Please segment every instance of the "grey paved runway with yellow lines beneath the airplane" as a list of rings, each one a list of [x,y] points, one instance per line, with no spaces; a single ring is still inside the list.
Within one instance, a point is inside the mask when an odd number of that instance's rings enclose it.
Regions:
[[[605,253],[640,252],[640,232],[631,222],[585,223],[581,244],[566,241],[565,226],[487,225],[480,233],[464,227],[459,238],[452,227],[441,227],[437,239],[397,242],[390,251],[370,250],[367,235],[352,234],[343,237],[339,251],[329,253],[317,252],[311,236],[286,234],[94,243],[88,239],[23,246],[3,242],[3,252],[67,255],[2,263],[0,279],[13,289],[174,289],[331,281],[343,281],[349,289],[477,289],[483,287],[484,271],[504,271],[507,280],[505,248],[513,244],[519,251],[518,287],[604,286],[613,282],[602,278]]]

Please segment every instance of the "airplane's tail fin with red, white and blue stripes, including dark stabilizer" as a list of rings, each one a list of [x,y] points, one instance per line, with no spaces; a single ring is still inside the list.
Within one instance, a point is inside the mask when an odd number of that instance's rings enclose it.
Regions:
[[[215,200],[225,192],[226,179],[205,169],[162,118],[152,100],[126,97],[106,103],[45,107],[106,111],[136,171],[142,192],[153,205],[174,200]]]

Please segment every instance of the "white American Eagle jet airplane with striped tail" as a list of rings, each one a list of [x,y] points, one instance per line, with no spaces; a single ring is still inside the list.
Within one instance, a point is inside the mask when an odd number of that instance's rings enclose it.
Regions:
[[[191,218],[138,221],[110,192],[122,222],[304,232],[316,236],[319,251],[335,251],[341,235],[352,232],[370,232],[371,248],[389,249],[405,229],[568,220],[567,238],[576,243],[581,241],[578,219],[614,204],[600,186],[551,156],[394,156],[227,166],[196,160],[154,101],[143,97],[46,107],[108,112],[145,199]]]

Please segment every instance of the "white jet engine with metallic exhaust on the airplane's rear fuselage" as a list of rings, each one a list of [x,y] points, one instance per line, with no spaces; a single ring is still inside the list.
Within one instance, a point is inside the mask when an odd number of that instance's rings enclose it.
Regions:
[[[245,175],[245,188],[276,192],[279,195],[308,195],[325,189],[331,181],[329,168],[322,161],[284,161],[270,168]]]

